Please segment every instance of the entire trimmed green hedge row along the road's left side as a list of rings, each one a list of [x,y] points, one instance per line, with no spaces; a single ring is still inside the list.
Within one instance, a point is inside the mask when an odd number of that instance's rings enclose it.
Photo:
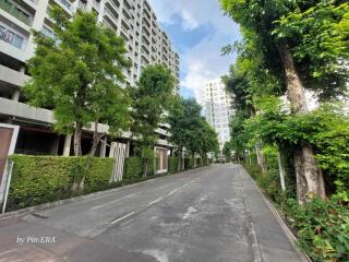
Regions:
[[[83,177],[87,157],[13,155],[10,159],[14,162],[14,167],[8,211],[13,211],[74,196],[76,193],[71,191],[71,186]],[[158,163],[158,158],[156,160]],[[169,174],[178,171],[178,162],[179,158],[169,157]],[[192,158],[185,158],[184,163],[185,169],[193,168]],[[154,175],[154,158],[151,158],[148,176]],[[110,183],[113,165],[113,158],[93,158],[84,191],[80,194],[144,180],[141,157],[125,158],[121,182]]]

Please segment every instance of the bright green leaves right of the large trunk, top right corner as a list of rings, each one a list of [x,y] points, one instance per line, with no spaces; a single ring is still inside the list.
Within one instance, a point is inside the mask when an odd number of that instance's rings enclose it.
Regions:
[[[344,94],[349,74],[349,4],[318,1],[275,21],[274,35],[292,43],[293,56],[308,87],[323,99]]]

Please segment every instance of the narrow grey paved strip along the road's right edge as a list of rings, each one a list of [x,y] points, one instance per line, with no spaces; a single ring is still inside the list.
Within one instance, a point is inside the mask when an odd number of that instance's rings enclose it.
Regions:
[[[250,204],[263,262],[309,262],[287,237],[279,218],[268,207],[260,189],[243,167],[239,167],[237,176],[244,184],[245,200]]]

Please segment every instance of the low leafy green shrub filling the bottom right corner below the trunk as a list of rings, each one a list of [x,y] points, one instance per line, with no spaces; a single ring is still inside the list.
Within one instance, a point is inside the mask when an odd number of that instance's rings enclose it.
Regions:
[[[299,246],[315,262],[349,261],[349,210],[334,200],[313,200],[299,206],[289,200],[284,210],[298,230]]]

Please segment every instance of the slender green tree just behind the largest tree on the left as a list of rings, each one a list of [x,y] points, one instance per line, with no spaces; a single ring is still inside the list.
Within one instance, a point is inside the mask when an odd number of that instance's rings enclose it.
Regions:
[[[137,87],[130,87],[132,97],[131,132],[136,138],[143,157],[143,176],[148,172],[148,159],[154,156],[157,142],[155,129],[166,120],[164,114],[174,103],[174,78],[161,64],[146,67]]]

